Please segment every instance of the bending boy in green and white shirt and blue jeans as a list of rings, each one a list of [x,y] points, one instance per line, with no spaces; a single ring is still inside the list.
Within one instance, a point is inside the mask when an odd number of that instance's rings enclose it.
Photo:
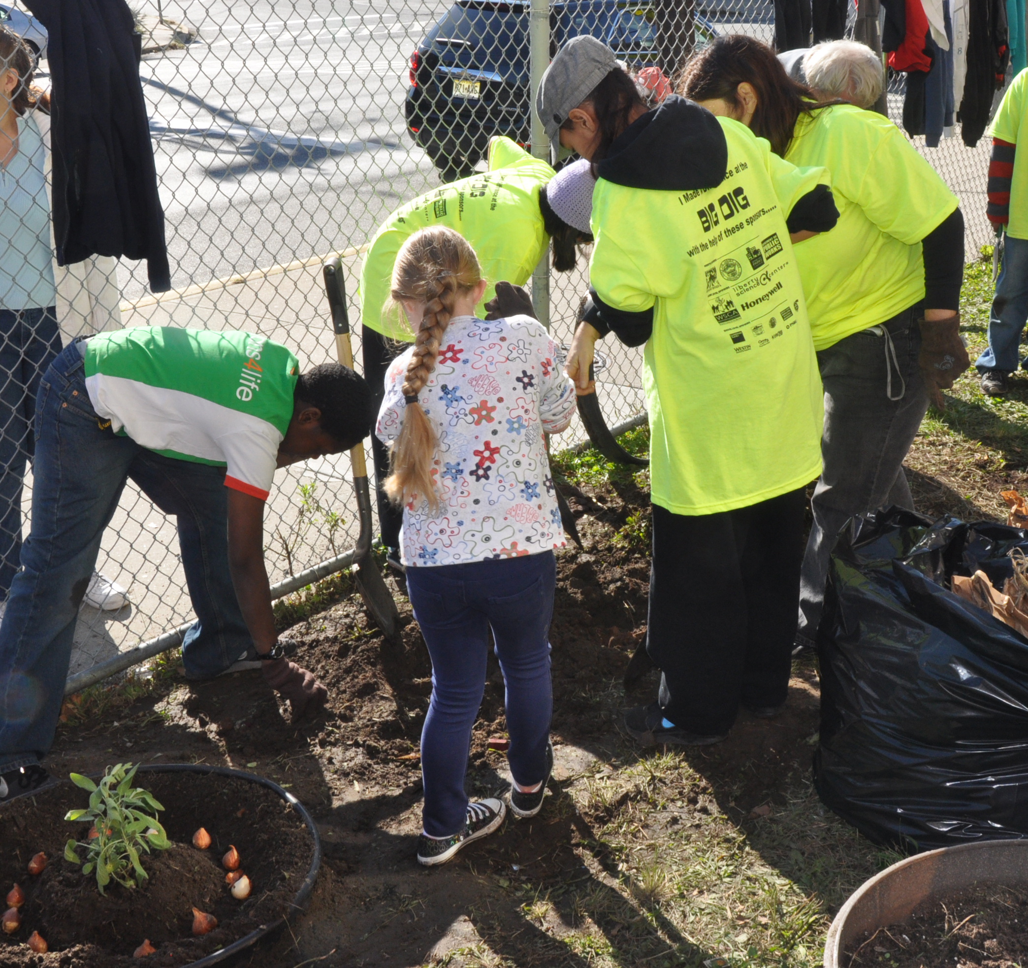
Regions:
[[[32,530],[0,624],[0,802],[48,782],[75,616],[126,480],[178,521],[196,621],[185,674],[243,668],[294,721],[327,690],[278,641],[264,567],[276,468],[338,454],[370,431],[371,392],[336,363],[300,373],[255,333],[137,327],[77,339],[37,400]]]

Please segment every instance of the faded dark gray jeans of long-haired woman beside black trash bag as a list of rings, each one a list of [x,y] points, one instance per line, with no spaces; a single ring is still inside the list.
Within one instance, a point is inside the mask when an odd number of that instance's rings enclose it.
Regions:
[[[814,521],[800,576],[799,646],[813,648],[829,560],[842,526],[853,514],[890,504],[914,509],[903,462],[928,408],[917,364],[917,320],[923,312],[918,302],[880,323],[881,332],[862,329],[817,353],[824,429],[821,476],[810,501]]]

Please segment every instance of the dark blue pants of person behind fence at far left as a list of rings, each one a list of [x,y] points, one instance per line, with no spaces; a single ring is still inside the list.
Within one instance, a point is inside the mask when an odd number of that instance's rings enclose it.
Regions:
[[[0,602],[22,553],[22,483],[34,450],[39,381],[60,352],[52,306],[0,309]]]

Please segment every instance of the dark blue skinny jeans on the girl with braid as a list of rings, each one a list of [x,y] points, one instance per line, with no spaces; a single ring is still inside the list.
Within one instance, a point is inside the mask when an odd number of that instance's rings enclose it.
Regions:
[[[464,778],[485,689],[490,628],[507,687],[511,775],[521,786],[546,776],[555,584],[552,551],[407,569],[410,604],[432,656],[432,703],[421,730],[421,816],[430,836],[447,837],[464,828]]]

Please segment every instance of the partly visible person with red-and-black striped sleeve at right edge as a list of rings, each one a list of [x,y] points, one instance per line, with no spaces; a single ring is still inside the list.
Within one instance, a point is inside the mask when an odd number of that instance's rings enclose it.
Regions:
[[[1003,264],[989,313],[989,346],[976,360],[986,396],[1006,396],[1021,358],[1021,333],[1028,320],[1028,148],[1018,150],[1021,124],[1028,128],[1028,69],[1021,71],[1003,96],[992,122],[989,202],[986,215],[1005,232]]]

